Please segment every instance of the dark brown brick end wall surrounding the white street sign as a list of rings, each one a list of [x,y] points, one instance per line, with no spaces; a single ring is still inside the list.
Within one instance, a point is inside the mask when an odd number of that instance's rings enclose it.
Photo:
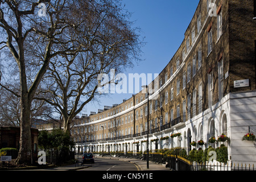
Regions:
[[[255,89],[256,21],[254,2],[229,1],[230,92]],[[249,88],[234,88],[234,80],[250,80]]]

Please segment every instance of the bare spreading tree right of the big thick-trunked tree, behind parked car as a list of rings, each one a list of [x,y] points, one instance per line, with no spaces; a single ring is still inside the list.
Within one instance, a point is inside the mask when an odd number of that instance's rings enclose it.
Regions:
[[[37,97],[56,107],[63,119],[64,131],[83,107],[98,93],[98,76],[110,69],[121,72],[123,68],[139,60],[142,42],[137,28],[131,28],[129,14],[123,13],[119,1],[73,1],[71,10],[76,27],[76,40],[82,51],[57,56],[49,64]],[[112,80],[112,79],[110,79]]]

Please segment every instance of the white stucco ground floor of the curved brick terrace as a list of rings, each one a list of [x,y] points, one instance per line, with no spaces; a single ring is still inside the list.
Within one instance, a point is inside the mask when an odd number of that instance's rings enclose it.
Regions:
[[[229,93],[216,105],[213,105],[188,121],[180,122],[148,134],[149,150],[163,148],[185,148],[187,152],[193,148],[214,148],[225,144],[228,147],[228,160],[243,165],[256,165],[256,141],[242,140],[247,133],[256,131],[256,91]],[[175,137],[172,137],[174,134]],[[210,143],[209,138],[216,139],[224,134],[230,141]],[[204,144],[191,146],[191,142],[203,140]],[[103,147],[103,148],[102,148]],[[77,143],[76,148],[88,152],[123,151],[144,152],[147,150],[147,135],[117,140],[90,143]]]

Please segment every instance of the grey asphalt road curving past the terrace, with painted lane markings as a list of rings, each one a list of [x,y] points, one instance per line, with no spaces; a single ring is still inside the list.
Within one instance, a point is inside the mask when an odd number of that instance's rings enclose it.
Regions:
[[[139,171],[138,166],[129,162],[103,158],[94,158],[94,160],[94,164],[85,164],[89,167],[79,171]]]

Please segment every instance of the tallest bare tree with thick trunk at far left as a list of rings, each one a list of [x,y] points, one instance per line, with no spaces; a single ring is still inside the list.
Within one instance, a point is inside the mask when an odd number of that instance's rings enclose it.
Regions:
[[[20,148],[17,163],[31,162],[32,101],[50,61],[59,55],[74,55],[81,48],[75,35],[76,28],[82,22],[79,22],[81,19],[75,21],[70,13],[82,12],[76,6],[71,7],[72,3],[69,2],[0,0],[0,50],[9,57],[5,60],[9,65],[16,63],[16,72],[19,74],[18,93],[14,92],[16,85],[8,85],[12,77],[3,75],[8,75],[8,71],[1,70],[0,80],[2,88],[20,98]]]

